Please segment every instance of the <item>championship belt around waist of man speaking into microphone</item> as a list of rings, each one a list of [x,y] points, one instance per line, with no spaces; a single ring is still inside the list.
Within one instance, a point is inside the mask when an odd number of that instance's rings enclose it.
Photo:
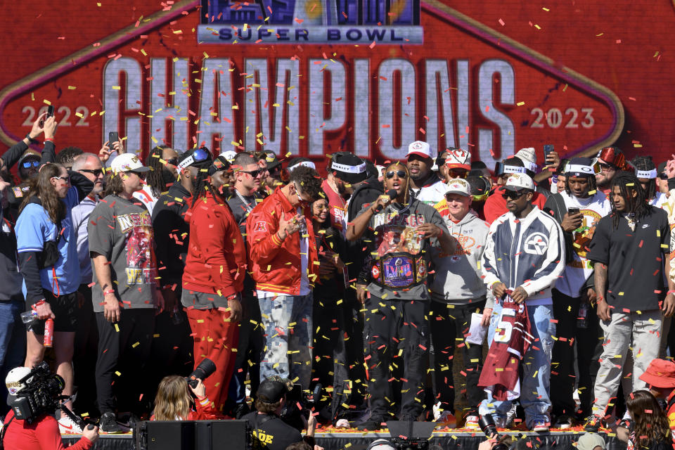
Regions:
[[[409,253],[392,253],[373,261],[371,266],[373,283],[387,288],[409,288],[427,278],[427,263],[423,257]]]

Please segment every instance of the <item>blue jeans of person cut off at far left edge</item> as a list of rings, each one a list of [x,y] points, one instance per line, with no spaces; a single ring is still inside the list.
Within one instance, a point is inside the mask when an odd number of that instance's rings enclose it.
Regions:
[[[21,322],[20,314],[26,305],[21,301],[0,302],[0,376],[4,380],[7,373],[15,367],[23,366],[26,354],[26,328]],[[7,398],[7,387],[0,383],[0,399]],[[9,411],[6,401],[1,402],[0,414]]]

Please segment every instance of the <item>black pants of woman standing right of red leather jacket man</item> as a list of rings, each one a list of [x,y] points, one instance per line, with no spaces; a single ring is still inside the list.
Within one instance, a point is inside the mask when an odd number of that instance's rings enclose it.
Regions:
[[[327,293],[326,288],[314,289],[314,361],[311,368],[311,389],[316,383],[332,386],[330,420],[344,416],[345,407],[351,404],[347,352],[345,349],[345,316],[342,312],[342,297]],[[340,301],[340,304],[338,304]]]

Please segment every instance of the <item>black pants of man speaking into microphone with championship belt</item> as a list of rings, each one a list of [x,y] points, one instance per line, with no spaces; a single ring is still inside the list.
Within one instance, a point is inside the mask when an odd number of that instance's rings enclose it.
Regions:
[[[399,418],[414,420],[423,411],[430,345],[429,304],[428,300],[389,300],[372,294],[365,302],[365,360],[371,417],[376,420],[389,419],[393,403],[389,393],[390,366],[403,366]]]

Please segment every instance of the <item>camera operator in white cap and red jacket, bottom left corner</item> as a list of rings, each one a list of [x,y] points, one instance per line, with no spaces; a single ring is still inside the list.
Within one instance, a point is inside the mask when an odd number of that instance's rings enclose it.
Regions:
[[[27,387],[30,389],[32,384],[41,381],[36,380],[36,376],[32,376],[24,383],[23,378],[30,372],[30,368],[17,367],[8,373],[5,383],[9,392],[7,397],[9,406],[13,406],[15,400],[24,397]],[[58,392],[56,394],[58,395]],[[56,403],[57,399],[54,398],[53,400]],[[66,447],[61,441],[58,422],[52,412],[50,409],[44,409],[32,420],[22,420],[15,418],[13,409],[9,411],[5,417],[1,434],[3,448],[11,450],[65,450]],[[91,449],[96,439],[98,439],[98,427],[90,425],[82,431],[82,438],[68,449]]]

